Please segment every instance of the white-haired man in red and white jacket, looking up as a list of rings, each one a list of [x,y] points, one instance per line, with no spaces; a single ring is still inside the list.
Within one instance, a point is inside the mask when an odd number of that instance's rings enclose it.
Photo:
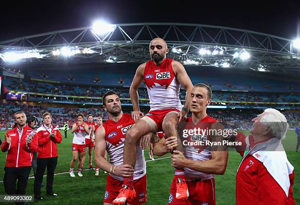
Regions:
[[[283,114],[266,109],[253,118],[248,146],[236,175],[237,205],[295,205],[294,167],[281,144],[288,123]]]

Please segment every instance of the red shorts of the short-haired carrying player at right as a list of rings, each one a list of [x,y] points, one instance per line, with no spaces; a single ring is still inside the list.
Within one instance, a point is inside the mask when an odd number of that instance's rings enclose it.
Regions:
[[[214,178],[200,182],[186,182],[190,196],[186,201],[176,200],[176,180],[171,185],[169,205],[216,205]]]

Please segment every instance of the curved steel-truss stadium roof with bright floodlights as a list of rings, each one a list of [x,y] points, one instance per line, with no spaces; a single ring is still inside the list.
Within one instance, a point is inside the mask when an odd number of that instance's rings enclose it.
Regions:
[[[293,40],[250,30],[188,23],[101,24],[0,42],[0,65],[142,63],[149,43],[166,40],[168,57],[183,64],[300,74]]]

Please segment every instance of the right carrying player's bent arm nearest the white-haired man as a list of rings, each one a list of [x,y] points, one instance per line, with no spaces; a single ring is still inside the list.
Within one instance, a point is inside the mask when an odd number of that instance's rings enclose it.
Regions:
[[[221,129],[224,130],[224,126],[220,123],[214,123],[211,129]],[[222,135],[220,136],[212,136],[212,142],[221,142],[224,139]],[[172,165],[176,167],[187,167],[193,169],[198,172],[206,173],[206,174],[218,174],[223,175],[225,173],[227,167],[228,160],[228,150],[226,145],[218,145],[211,147],[211,157],[210,160],[190,160],[186,159],[182,152],[177,150],[172,154]]]

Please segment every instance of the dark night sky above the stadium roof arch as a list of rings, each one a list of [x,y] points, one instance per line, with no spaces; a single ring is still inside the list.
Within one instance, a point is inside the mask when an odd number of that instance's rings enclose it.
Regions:
[[[199,1],[200,3],[196,3]],[[295,39],[300,0],[10,0],[2,7],[0,41],[42,32],[109,23],[174,22],[228,26]],[[6,1],[7,2],[7,1]],[[3,19],[4,17],[4,19]]]

